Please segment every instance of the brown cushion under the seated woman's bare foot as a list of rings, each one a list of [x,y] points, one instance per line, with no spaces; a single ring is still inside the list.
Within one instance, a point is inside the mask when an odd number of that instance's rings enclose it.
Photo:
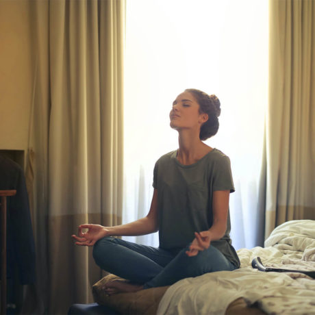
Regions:
[[[160,300],[169,287],[163,286],[140,290],[138,292],[119,293],[108,296],[103,290],[103,286],[106,282],[116,279],[126,281],[116,275],[108,275],[95,283],[92,287],[92,293],[95,302],[106,305],[112,308],[112,310],[122,314],[156,314]]]

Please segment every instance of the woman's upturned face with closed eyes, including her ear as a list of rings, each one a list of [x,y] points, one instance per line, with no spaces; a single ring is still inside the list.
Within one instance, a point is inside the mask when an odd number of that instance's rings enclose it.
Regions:
[[[173,129],[199,129],[207,114],[199,113],[199,103],[190,92],[183,92],[173,101],[170,112],[171,127]]]

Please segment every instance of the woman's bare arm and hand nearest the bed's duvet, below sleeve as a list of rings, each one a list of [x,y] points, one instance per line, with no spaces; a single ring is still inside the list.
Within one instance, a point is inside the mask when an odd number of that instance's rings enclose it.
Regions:
[[[212,240],[220,240],[227,230],[227,214],[229,212],[229,190],[217,190],[212,200],[213,223],[207,231],[195,232],[195,238],[186,251],[188,256],[195,256],[199,251],[210,247]]]

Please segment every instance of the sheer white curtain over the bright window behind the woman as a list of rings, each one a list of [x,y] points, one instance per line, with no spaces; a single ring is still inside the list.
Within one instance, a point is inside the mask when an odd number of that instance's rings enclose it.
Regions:
[[[145,216],[155,161],[177,149],[168,113],[185,88],[216,94],[220,129],[206,143],[229,155],[231,236],[262,244],[268,1],[127,0],[123,222]],[[126,238],[157,245],[157,235]]]

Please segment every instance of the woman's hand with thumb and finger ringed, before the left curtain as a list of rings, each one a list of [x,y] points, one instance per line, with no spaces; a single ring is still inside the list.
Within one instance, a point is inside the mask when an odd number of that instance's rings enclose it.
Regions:
[[[82,229],[88,229],[85,233]],[[93,246],[100,238],[109,235],[109,229],[98,224],[82,224],[79,225],[78,235],[72,235],[77,242],[75,244],[80,246]]]

